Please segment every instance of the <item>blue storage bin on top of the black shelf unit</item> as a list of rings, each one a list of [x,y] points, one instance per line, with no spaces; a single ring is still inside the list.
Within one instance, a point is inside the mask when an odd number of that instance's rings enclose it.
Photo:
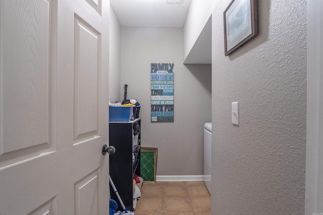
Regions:
[[[133,117],[133,107],[109,107],[109,122],[129,122]]]

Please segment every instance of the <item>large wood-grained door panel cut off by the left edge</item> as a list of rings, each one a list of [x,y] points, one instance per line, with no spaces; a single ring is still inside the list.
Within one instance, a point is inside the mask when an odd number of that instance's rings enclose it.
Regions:
[[[1,1],[0,4],[3,16],[0,26],[3,48],[1,168],[53,149],[49,58],[52,56],[51,16],[56,8],[52,1],[44,0]]]

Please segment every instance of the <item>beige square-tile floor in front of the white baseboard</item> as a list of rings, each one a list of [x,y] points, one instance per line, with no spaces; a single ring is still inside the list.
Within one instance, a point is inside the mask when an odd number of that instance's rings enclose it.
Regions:
[[[211,195],[203,181],[144,182],[135,215],[210,215]]]

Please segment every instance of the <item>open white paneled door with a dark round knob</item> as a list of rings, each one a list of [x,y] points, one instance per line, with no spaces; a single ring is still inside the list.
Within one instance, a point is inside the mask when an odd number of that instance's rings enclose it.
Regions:
[[[0,0],[0,214],[108,214],[109,1]]]

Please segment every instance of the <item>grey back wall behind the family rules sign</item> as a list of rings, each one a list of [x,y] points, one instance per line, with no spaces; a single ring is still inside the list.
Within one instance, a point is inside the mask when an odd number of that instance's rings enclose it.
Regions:
[[[175,122],[150,122],[150,63],[174,63]],[[121,28],[121,87],[141,104],[141,144],[158,148],[157,175],[203,174],[211,65],[183,64],[183,28]]]

